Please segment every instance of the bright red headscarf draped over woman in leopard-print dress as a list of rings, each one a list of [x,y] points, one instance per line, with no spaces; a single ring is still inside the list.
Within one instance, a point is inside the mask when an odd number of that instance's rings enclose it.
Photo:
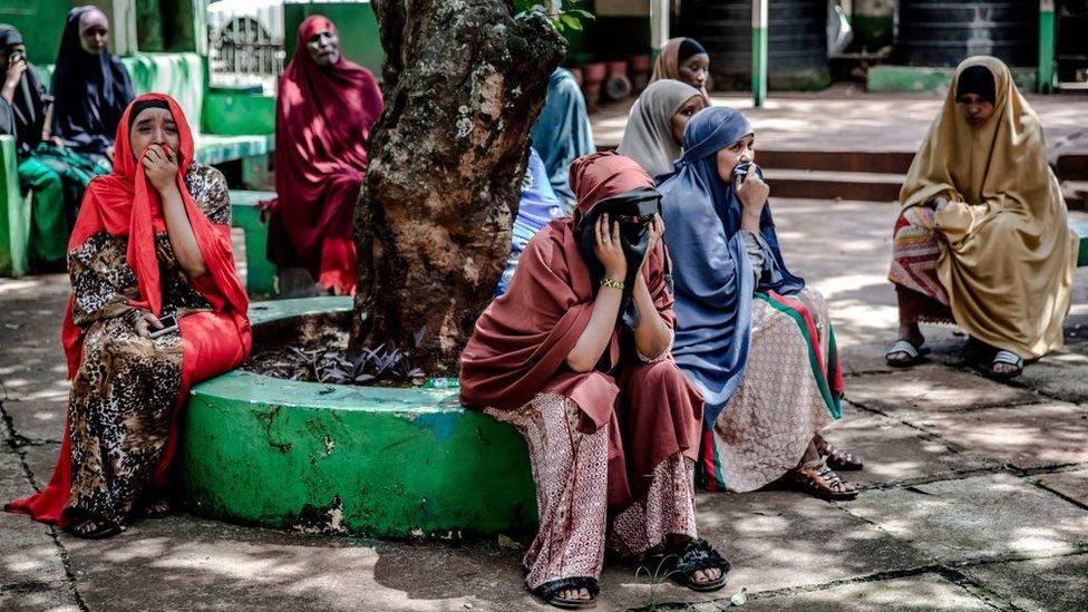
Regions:
[[[231,229],[216,225],[208,220],[193,202],[192,194],[185,186],[185,172],[193,163],[193,135],[190,132],[185,115],[173,98],[163,94],[145,94],[128,105],[117,126],[116,150],[114,153],[114,173],[98,176],[90,182],[76,218],[68,251],[78,247],[90,236],[106,231],[116,236],[128,236],[127,263],[136,275],[139,297],[130,303],[137,308],[147,309],[156,315],[162,312],[163,297],[158,278],[158,259],[155,255],[155,232],[166,230],[163,218],[163,204],[158,193],[148,188],[144,175],[144,165],[139,163],[132,149],[129,140],[129,117],[136,105],[147,100],[159,100],[169,108],[181,140],[181,159],[178,161],[177,190],[182,194],[185,212],[188,216],[196,243],[204,259],[207,272],[200,278],[191,279],[192,285],[212,305],[215,314],[226,317],[230,322],[216,326],[208,321],[208,313],[186,317],[179,321],[182,328],[182,383],[178,390],[177,406],[172,416],[173,426],[166,439],[166,446],[158,465],[152,474],[150,482],[155,486],[163,486],[169,468],[171,459],[177,444],[177,419],[188,398],[190,385],[218,373],[225,369],[236,367],[250,352],[252,336],[250,322],[246,318],[249,299],[242,283],[239,282],[234,269],[234,256],[231,251]],[[144,152],[139,152],[143,156]],[[68,300],[65,312],[61,340],[65,354],[68,358],[68,378],[74,378],[79,370],[82,358],[82,330],[72,321],[72,303],[75,297]],[[237,342],[223,339],[216,342],[214,338],[223,338],[229,333],[233,323],[237,330]],[[193,339],[190,334],[197,338]],[[193,341],[195,340],[195,341]],[[222,353],[222,354],[221,354]],[[229,361],[229,362],[227,362]],[[30,514],[36,521],[64,524],[64,508],[68,505],[71,490],[71,458],[70,438],[67,418],[65,419],[65,435],[57,457],[57,466],[48,486],[41,493],[19,499],[4,506],[6,511]]]

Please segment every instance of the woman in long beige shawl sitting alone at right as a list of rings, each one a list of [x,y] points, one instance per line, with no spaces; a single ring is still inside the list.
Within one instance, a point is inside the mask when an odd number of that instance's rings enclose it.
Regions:
[[[960,64],[900,201],[888,273],[900,340],[890,365],[926,352],[919,322],[959,324],[988,349],[995,378],[1061,347],[1077,236],[1039,117],[1001,60]]]

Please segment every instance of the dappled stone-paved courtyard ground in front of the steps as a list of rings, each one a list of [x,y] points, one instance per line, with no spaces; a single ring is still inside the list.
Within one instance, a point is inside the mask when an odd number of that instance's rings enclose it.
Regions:
[[[775,207],[788,260],[832,305],[849,404],[832,438],[866,459],[865,490],[842,504],[700,494],[700,530],[734,563],[726,590],[696,595],[609,566],[601,608],[1088,609],[1088,270],[1069,346],[1019,382],[977,376],[950,328],[925,330],[930,363],[891,371],[895,207]],[[62,275],[0,280],[3,501],[43,486],[56,459],[67,292]],[[0,610],[543,610],[521,586],[524,544],[312,536],[185,513],[84,542],[0,514]]]

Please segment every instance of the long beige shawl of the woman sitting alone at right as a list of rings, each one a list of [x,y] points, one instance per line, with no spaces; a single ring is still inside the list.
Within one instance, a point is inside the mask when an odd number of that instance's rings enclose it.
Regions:
[[[963,69],[977,65],[993,74],[997,100],[990,119],[972,128],[955,89]],[[1039,117],[995,58],[971,57],[956,68],[900,202],[905,210],[938,196],[950,202],[935,215],[938,276],[956,323],[1024,359],[1061,347],[1077,237],[1047,165]]]

